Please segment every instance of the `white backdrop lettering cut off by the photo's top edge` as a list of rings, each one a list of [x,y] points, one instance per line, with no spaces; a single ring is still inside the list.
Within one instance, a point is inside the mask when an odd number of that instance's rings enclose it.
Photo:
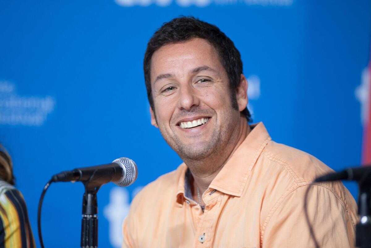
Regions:
[[[160,7],[167,7],[173,3],[173,0],[115,0],[115,2],[123,7],[132,7],[135,5],[146,7],[151,4],[156,4]],[[188,7],[191,5],[206,7],[210,4],[245,4],[250,6],[291,6],[293,4],[293,0],[174,0],[174,2],[181,7]]]

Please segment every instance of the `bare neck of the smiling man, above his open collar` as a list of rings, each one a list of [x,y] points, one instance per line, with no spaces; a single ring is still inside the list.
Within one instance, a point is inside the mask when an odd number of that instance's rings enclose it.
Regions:
[[[216,175],[223,168],[224,164],[226,164],[230,157],[232,157],[234,151],[236,151],[240,144],[242,144],[250,131],[251,129],[249,124],[247,123],[246,118],[244,116],[241,116],[239,123],[239,133],[237,134],[236,138],[230,141],[230,144],[228,144],[228,147],[223,150],[223,153],[217,155],[214,154],[213,156],[210,156],[203,161],[197,161],[197,165],[188,164],[188,161],[185,161],[193,175],[194,180],[191,188],[194,196],[197,196],[197,187],[200,189],[201,194],[207,190]],[[208,169],[196,170],[196,168]]]

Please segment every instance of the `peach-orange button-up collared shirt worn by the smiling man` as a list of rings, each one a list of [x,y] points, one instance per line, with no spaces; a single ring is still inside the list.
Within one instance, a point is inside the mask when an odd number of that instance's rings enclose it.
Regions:
[[[263,123],[234,151],[203,193],[187,193],[187,166],[162,175],[132,201],[123,247],[354,247],[357,204],[341,182],[311,184],[332,170],[271,140]]]

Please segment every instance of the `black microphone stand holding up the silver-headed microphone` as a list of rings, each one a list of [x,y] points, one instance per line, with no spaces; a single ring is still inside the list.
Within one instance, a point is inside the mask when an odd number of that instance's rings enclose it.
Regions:
[[[81,247],[98,247],[98,203],[96,193],[101,187],[100,184],[91,181],[94,174],[88,181],[83,181],[85,193],[82,198],[82,221],[81,221]]]

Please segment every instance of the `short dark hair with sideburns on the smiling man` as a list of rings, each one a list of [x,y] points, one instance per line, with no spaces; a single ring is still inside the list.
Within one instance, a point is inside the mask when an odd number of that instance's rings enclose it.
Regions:
[[[170,44],[191,40],[192,38],[203,38],[214,46],[219,54],[221,64],[227,72],[229,86],[231,91],[232,107],[238,110],[236,89],[240,84],[242,74],[242,60],[240,52],[220,29],[212,24],[200,21],[194,17],[179,17],[167,23],[164,23],[158,29],[147,45],[145,51],[143,67],[144,80],[147,87],[148,101],[153,111],[154,104],[151,89],[151,58],[155,51],[160,47]],[[242,111],[248,121],[251,120],[251,114],[247,107]]]

